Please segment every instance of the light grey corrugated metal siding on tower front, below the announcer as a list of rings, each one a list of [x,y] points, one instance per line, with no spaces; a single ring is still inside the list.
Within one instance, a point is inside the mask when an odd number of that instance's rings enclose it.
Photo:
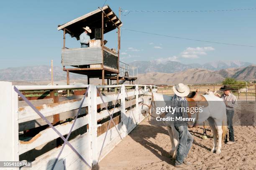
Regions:
[[[62,65],[90,65],[102,63],[102,48],[62,49]]]

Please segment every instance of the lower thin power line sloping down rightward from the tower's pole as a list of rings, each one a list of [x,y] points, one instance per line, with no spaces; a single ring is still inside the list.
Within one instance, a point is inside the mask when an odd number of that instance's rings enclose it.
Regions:
[[[223,43],[223,42],[196,40],[196,39],[191,39],[191,38],[184,38],[184,37],[176,37],[176,36],[171,36],[171,35],[156,34],[156,33],[145,32],[145,31],[130,30],[130,29],[125,29],[125,28],[123,28],[122,30],[128,30],[128,31],[133,31],[133,32],[141,32],[141,33],[145,33],[145,34],[159,35],[159,36],[164,36],[164,37],[172,37],[172,38],[177,38],[177,39],[182,39],[182,40],[192,40],[192,41],[199,41],[199,42],[210,42],[210,43],[215,43],[215,44],[235,45],[235,46],[243,46],[243,47],[256,47],[256,46],[253,46],[253,45],[241,45],[241,44],[230,44],[230,43]]]

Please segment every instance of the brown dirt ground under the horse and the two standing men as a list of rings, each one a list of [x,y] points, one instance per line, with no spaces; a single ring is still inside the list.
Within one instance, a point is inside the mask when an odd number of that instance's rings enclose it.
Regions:
[[[152,123],[151,123],[152,124]],[[143,120],[123,141],[121,141],[96,169],[100,170],[174,170],[174,160],[168,153],[171,148],[168,131],[161,122],[151,125]],[[221,154],[210,153],[212,133],[203,140],[201,127],[189,128],[194,142],[187,160],[192,163],[186,170],[255,170],[256,169],[256,127],[235,126],[233,145],[223,143]]]

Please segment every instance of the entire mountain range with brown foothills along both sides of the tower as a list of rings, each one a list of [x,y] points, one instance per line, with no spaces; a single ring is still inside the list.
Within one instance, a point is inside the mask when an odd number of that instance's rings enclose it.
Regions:
[[[168,61],[157,63],[153,61],[133,62],[138,67],[138,84],[176,84],[179,82],[187,84],[216,83],[226,77],[237,80],[256,80],[256,65],[240,61],[218,61],[200,64],[182,64],[180,62]],[[10,67],[0,70],[0,80],[16,81],[14,84],[47,84],[51,80],[50,66],[38,65],[33,67]],[[221,68],[221,69],[220,69]],[[67,73],[61,67],[54,67],[54,81],[67,80]],[[87,76],[69,73],[70,81],[87,83]],[[23,80],[23,81],[22,81]],[[91,83],[99,84],[99,79]],[[32,85],[32,84],[31,84]]]

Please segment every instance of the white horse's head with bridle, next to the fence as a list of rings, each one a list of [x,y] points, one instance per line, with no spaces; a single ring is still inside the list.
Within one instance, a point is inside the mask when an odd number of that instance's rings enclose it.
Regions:
[[[154,100],[152,90],[149,90],[143,93],[143,98],[142,98],[143,104],[141,108],[141,114],[143,116],[146,116],[150,111],[150,108],[152,106],[152,100]]]

